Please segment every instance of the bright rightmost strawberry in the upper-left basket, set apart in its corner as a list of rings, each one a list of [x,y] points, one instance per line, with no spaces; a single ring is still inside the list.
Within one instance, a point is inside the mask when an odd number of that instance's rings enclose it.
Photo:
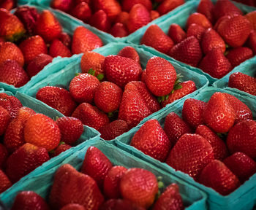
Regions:
[[[75,28],[72,41],[72,54],[87,52],[102,47],[102,40],[83,26]]]

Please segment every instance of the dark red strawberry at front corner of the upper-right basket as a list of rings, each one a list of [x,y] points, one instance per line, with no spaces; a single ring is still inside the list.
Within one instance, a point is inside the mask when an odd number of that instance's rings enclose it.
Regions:
[[[199,68],[204,72],[220,79],[231,71],[232,66],[220,48],[215,48],[207,53],[199,64]]]

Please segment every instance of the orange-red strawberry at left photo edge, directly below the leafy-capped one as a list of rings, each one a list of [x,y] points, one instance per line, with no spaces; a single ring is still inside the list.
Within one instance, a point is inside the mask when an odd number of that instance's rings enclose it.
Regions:
[[[24,57],[22,52],[12,42],[4,42],[0,45],[0,64],[8,59],[17,61],[21,67],[24,65]]]

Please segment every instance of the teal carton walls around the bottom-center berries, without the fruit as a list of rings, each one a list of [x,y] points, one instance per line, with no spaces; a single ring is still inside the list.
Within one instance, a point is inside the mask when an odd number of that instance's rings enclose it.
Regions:
[[[53,184],[53,176],[56,170],[65,163],[69,163],[76,169],[80,170],[87,149],[90,146],[94,146],[100,149],[110,159],[113,165],[124,166],[127,168],[145,168],[146,170],[154,173],[156,176],[162,176],[162,182],[165,183],[166,187],[171,183],[178,184],[182,200],[184,201],[184,205],[187,207],[186,209],[206,209],[206,194],[197,188],[190,186],[176,176],[167,174],[165,171],[162,171],[151,164],[144,162],[143,160],[135,158],[129,153],[124,152],[103,140],[87,141],[86,145],[84,146],[85,147],[83,147],[83,149],[76,151],[58,166],[55,166],[42,174],[38,174],[37,176],[31,176],[31,179],[16,185],[16,187],[12,190],[7,190],[5,193],[1,194],[1,201],[7,207],[11,207],[15,195],[17,195],[17,193],[19,193],[21,190],[34,190],[34,192],[38,193],[43,198],[48,198],[51,185]]]

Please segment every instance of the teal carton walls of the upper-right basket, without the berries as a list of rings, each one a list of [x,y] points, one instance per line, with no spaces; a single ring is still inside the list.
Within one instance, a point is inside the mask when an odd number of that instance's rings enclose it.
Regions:
[[[213,0],[214,3],[216,1],[217,0]],[[157,25],[160,28],[162,28],[162,31],[164,31],[165,34],[168,33],[170,25],[173,23],[178,24],[179,26],[181,26],[181,28],[185,28],[186,23],[187,23],[187,18],[189,18],[189,15],[191,15],[192,13],[197,12],[197,6],[199,3],[200,3],[199,0],[188,1],[186,3],[186,7],[184,7],[183,9],[179,9],[175,14],[170,15],[169,18],[167,18],[166,20],[164,20],[163,22],[161,22]],[[237,2],[233,2],[233,3],[236,4],[236,6],[239,9],[241,9],[241,11],[243,11],[244,13],[252,12],[255,10],[255,7],[249,7],[244,4],[239,4]],[[150,25],[148,25],[148,26],[150,26]],[[148,28],[148,26],[147,26],[147,28]],[[146,31],[146,28],[143,28],[143,29],[145,29],[145,30],[141,30],[140,33],[136,34],[136,36],[129,37],[127,39],[127,42],[131,42],[133,44],[140,44],[140,39],[143,37],[143,35],[145,34],[145,31]],[[215,82],[217,80],[217,78],[211,77],[209,74],[203,72],[201,69],[190,66],[186,63],[182,63],[181,61],[177,61],[174,58],[171,58],[169,55],[159,52],[158,50],[155,50],[153,47],[146,46],[145,44],[140,45],[140,47],[142,47],[144,50],[147,50],[148,52],[151,52],[152,54],[157,55],[159,57],[162,57],[165,59],[169,58],[173,61],[176,61],[181,66],[185,66],[187,69],[189,69],[191,71],[195,71],[199,74],[205,75],[207,77],[207,79],[209,80],[210,84],[212,84],[213,82]]]

